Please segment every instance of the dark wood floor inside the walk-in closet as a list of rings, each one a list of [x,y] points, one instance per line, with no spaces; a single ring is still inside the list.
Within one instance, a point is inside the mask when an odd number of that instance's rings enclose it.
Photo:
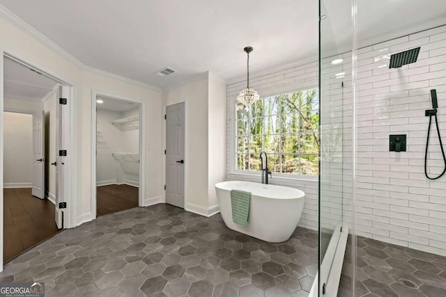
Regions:
[[[138,207],[139,188],[127,184],[98,186],[96,216]]]

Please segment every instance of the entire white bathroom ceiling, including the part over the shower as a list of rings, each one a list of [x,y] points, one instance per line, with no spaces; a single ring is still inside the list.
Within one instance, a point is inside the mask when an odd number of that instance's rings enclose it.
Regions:
[[[445,17],[445,0],[357,0],[360,40]],[[226,80],[317,59],[316,0],[0,0],[85,65],[165,88],[211,71]],[[350,1],[325,0],[333,42],[348,44]],[[334,22],[336,20],[336,22]],[[407,32],[410,33],[410,32]],[[393,34],[393,35],[392,35]],[[348,48],[348,47],[347,47]],[[163,67],[177,72],[155,73]]]

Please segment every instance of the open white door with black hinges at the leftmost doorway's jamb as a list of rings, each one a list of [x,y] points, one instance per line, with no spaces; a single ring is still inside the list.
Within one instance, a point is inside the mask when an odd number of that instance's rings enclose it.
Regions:
[[[59,86],[56,99],[56,162],[52,166],[56,166],[56,193],[54,201],[56,202],[56,225],[59,229],[63,228],[63,208],[59,208],[60,202],[66,202],[66,156],[61,153],[66,150],[64,143],[64,120],[66,113],[66,104],[61,104],[60,98],[67,98],[68,92],[64,90],[63,86]],[[68,99],[68,98],[67,98]]]

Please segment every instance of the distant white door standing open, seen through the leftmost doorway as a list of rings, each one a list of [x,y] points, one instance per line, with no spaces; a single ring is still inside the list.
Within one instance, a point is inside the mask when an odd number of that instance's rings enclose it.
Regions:
[[[33,113],[33,196],[45,199],[45,111]]]

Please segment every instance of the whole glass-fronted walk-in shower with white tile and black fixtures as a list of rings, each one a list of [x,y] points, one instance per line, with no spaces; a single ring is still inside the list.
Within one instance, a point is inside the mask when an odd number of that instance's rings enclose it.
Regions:
[[[445,16],[320,0],[318,296],[446,296]]]

